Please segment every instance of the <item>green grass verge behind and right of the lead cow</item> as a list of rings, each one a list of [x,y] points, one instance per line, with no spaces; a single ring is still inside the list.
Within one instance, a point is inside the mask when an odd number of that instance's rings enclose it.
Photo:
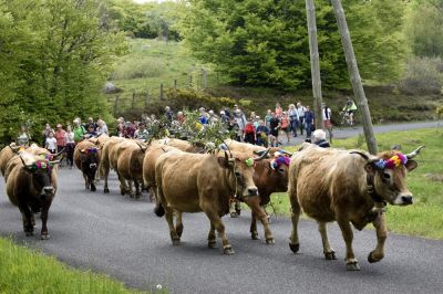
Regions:
[[[404,153],[419,145],[426,148],[415,158],[419,167],[408,175],[408,187],[414,195],[414,204],[409,207],[388,207],[388,229],[393,232],[443,239],[443,182],[432,181],[425,175],[443,175],[443,128],[427,128],[410,132],[394,132],[377,135],[379,149],[391,149],[400,144]],[[338,148],[358,148],[361,139],[336,139]],[[365,146],[363,146],[365,147]],[[362,147],[362,148],[363,148]],[[291,148],[295,150],[296,148]],[[276,211],[289,214],[289,199],[286,193],[272,195]]]

